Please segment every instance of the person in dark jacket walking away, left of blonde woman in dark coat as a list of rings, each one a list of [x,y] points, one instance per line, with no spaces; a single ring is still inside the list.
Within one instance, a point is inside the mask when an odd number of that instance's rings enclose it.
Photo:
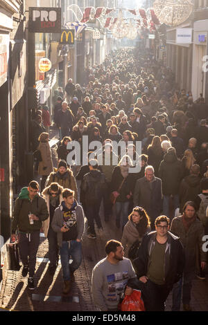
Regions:
[[[88,238],[90,239],[96,239],[94,220],[98,232],[101,233],[103,230],[99,210],[105,187],[105,175],[98,170],[98,161],[96,159],[89,160],[89,173],[83,177],[82,193],[85,200]]]

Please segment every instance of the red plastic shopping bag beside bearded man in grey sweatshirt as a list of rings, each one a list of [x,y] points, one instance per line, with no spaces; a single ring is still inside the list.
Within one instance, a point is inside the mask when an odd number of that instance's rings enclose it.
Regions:
[[[133,290],[130,296],[125,295],[121,303],[121,311],[145,311],[141,290]]]

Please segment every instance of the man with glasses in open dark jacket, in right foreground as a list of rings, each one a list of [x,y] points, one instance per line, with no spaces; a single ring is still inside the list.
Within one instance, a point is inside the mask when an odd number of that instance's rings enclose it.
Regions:
[[[137,279],[128,288],[141,290],[146,311],[164,311],[165,301],[184,270],[184,250],[180,240],[169,232],[169,219],[159,216],[155,232],[144,236],[134,261]]]

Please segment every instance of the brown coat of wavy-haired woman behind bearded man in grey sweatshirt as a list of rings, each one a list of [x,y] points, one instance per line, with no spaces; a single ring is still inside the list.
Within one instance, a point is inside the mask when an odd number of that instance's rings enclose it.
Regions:
[[[146,232],[150,232],[150,227],[147,227]],[[136,224],[132,220],[129,220],[123,228],[123,234],[121,238],[121,243],[123,245],[123,250],[125,257],[128,258],[128,251],[130,247],[135,243],[135,241],[142,241],[144,236],[140,236],[136,228]]]

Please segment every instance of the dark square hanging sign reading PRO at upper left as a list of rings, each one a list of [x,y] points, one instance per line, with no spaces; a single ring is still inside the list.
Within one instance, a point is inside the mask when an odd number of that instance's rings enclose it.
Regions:
[[[61,32],[61,8],[29,8],[29,32]]]

